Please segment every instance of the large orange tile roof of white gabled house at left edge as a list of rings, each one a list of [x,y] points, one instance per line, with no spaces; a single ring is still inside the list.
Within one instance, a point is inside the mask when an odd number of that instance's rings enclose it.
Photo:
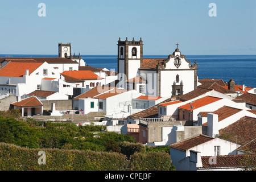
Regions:
[[[34,72],[43,63],[29,63],[29,62],[9,62],[0,69],[0,76],[7,77],[22,77],[26,75],[26,70],[29,70],[29,74]]]

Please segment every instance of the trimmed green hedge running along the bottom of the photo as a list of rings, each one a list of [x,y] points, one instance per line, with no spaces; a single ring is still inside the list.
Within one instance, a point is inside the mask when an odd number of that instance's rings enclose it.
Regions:
[[[39,151],[46,154],[46,164],[39,164]],[[39,160],[40,161],[40,160]],[[166,152],[135,152],[127,156],[118,152],[26,148],[0,143],[2,171],[166,171],[173,169]]]

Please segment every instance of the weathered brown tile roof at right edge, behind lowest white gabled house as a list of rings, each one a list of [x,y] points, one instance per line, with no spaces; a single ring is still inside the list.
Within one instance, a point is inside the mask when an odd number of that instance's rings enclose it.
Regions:
[[[233,142],[245,144],[256,137],[256,118],[242,117],[231,125],[219,130],[220,136],[229,136]]]

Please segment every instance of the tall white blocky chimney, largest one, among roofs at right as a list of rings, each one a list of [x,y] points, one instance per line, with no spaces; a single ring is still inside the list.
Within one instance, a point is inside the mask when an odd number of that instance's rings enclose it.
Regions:
[[[213,113],[207,114],[207,135],[214,137],[218,133],[218,115]]]

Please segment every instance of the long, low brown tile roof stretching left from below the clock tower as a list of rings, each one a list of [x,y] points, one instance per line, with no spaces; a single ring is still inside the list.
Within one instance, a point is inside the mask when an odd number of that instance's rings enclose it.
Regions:
[[[78,64],[77,61],[72,61],[71,59],[66,59],[64,57],[14,57],[14,58],[6,58],[6,57],[0,57],[0,62],[6,60],[11,61],[22,61],[22,60],[31,60],[34,59],[38,63],[44,63],[47,62],[49,64],[56,64],[56,63],[69,63],[69,64]]]

